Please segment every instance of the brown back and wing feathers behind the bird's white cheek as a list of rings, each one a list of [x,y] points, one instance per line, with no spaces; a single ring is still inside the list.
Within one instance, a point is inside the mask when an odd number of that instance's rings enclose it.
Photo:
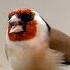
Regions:
[[[65,33],[51,29],[50,47],[65,54],[65,60],[70,62],[70,37]]]

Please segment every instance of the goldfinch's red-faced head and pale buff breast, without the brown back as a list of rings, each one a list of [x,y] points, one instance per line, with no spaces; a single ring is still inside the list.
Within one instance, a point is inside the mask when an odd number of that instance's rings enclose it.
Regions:
[[[50,33],[50,25],[37,11],[11,11],[5,49],[13,70],[61,70],[63,53],[49,47]]]

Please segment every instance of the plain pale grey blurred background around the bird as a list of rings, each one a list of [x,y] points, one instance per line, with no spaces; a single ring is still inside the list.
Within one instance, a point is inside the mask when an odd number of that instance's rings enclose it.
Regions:
[[[5,43],[8,13],[17,8],[38,11],[51,27],[70,35],[70,0],[0,0],[0,43]],[[4,64],[5,57],[1,56]]]

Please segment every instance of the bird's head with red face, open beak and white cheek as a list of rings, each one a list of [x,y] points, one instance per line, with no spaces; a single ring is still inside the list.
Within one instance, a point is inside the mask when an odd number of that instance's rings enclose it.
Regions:
[[[50,27],[34,10],[17,9],[8,15],[8,38],[10,41],[28,41],[48,38]]]

